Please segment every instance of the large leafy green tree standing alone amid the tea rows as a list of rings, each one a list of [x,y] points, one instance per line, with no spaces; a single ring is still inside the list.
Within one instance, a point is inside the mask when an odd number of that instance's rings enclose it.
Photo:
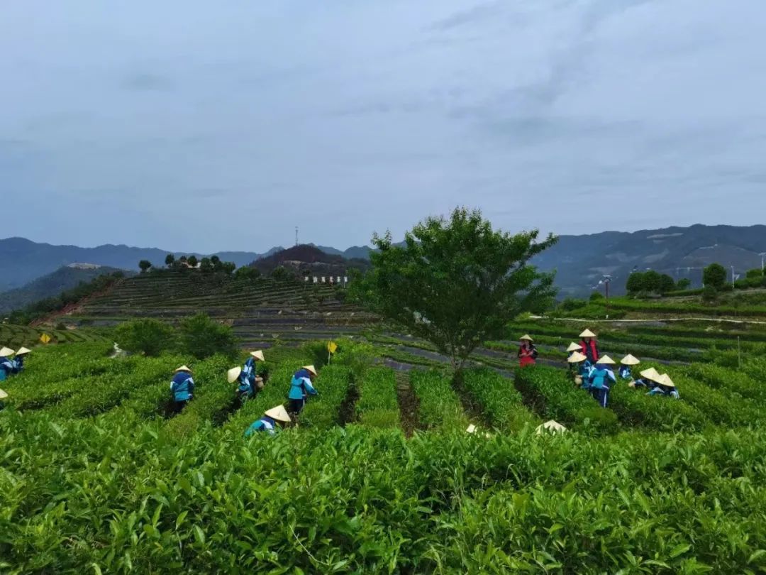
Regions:
[[[553,301],[553,274],[529,261],[556,241],[538,232],[493,230],[479,210],[455,209],[450,218],[427,218],[404,238],[375,235],[372,270],[352,281],[350,294],[425,340],[460,373],[486,340],[506,336],[506,324],[524,311],[545,311]]]

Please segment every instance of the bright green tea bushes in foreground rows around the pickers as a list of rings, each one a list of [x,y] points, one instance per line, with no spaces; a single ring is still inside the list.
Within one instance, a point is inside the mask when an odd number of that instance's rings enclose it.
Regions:
[[[3,384],[2,571],[766,570],[766,361],[666,367],[682,399],[622,383],[602,409],[556,367],[453,381],[340,350],[296,425],[250,439],[312,348],[267,350],[244,405],[223,357],[35,350]],[[169,417],[179,363],[197,389]],[[569,431],[535,434],[550,418]]]

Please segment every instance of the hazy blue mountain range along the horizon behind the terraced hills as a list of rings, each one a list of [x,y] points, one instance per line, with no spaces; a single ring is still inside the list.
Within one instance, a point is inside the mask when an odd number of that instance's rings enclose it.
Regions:
[[[311,244],[314,246],[313,244]],[[300,246],[299,246],[300,247]],[[342,258],[369,258],[371,248],[354,246],[339,250],[314,246],[329,255]],[[273,255],[283,248],[265,253],[254,251],[218,252],[223,261],[237,266]],[[735,274],[745,274],[761,267],[761,253],[766,252],[766,226],[692,225],[689,228],[662,228],[640,232],[600,232],[591,235],[562,235],[558,243],[538,258],[535,265],[545,271],[556,270],[556,284],[562,297],[585,296],[597,286],[604,274],[612,278],[612,293],[624,293],[630,271],[651,268],[673,278],[702,282],[702,268],[718,261]],[[170,252],[158,248],[133,248],[126,245],[101,245],[78,248],[74,245],[38,244],[24,238],[0,240],[0,291],[17,288],[62,265],[84,262],[136,271],[139,260],[164,265]],[[201,258],[201,254],[195,254]],[[212,255],[212,254],[211,254]],[[266,263],[266,262],[264,262]],[[337,262],[333,262],[337,263]]]

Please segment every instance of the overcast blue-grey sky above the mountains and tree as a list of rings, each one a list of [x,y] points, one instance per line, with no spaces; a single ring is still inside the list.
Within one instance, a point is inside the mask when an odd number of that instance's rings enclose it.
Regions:
[[[0,237],[764,223],[764,0],[6,0]]]

